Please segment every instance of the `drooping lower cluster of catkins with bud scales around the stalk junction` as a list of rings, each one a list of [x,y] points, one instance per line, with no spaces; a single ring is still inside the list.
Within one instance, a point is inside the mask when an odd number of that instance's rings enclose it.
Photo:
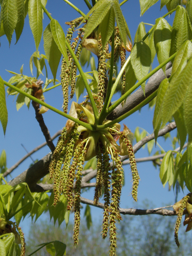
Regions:
[[[73,102],[70,115],[83,122],[91,123],[94,115],[90,105],[85,107]],[[73,112],[73,113],[72,113]],[[75,114],[74,114],[75,113]],[[107,122],[107,121],[105,121]],[[104,217],[102,237],[110,235],[110,255],[116,251],[116,221],[121,220],[119,204],[123,184],[123,168],[120,155],[129,155],[133,178],[132,197],[137,200],[139,175],[132,149],[132,133],[124,126],[120,132],[120,124],[111,128],[91,131],[84,126],[68,120],[64,127],[50,163],[50,178],[54,180],[54,205],[60,195],[67,198],[67,210],[74,207],[74,243],[78,244],[80,227],[80,193],[82,170],[85,161],[94,156],[97,158],[97,175],[94,204],[104,196]],[[119,140],[118,145],[116,141]],[[110,164],[110,159],[112,164]]]

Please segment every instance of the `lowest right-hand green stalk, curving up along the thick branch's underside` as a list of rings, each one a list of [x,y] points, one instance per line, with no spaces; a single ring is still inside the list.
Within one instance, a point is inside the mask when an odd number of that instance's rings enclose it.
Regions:
[[[107,124],[102,124],[102,125],[98,125],[97,129],[98,130],[102,130],[105,128],[108,128],[110,126],[112,126],[113,124],[119,123],[120,121],[124,120],[125,118],[127,118],[128,116],[130,116],[131,114],[133,114],[134,112],[136,112],[137,110],[139,110],[140,108],[142,108],[144,105],[146,105],[150,100],[152,100],[156,95],[157,95],[158,89],[156,91],[154,91],[150,96],[148,96],[146,99],[144,99],[140,104],[138,104],[136,107],[132,108],[132,110],[126,112],[125,114],[123,114],[122,116],[119,116],[118,118],[116,118],[115,120],[107,123]]]

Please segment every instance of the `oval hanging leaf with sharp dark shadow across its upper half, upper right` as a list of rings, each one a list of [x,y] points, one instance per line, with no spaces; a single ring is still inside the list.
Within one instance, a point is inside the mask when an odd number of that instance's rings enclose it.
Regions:
[[[154,27],[154,45],[159,64],[169,58],[171,46],[171,26],[164,18],[158,18]],[[162,67],[165,73],[166,66]]]

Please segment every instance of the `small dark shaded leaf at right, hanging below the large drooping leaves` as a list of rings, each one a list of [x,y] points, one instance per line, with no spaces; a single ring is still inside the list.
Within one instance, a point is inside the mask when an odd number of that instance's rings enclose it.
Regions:
[[[180,106],[180,108],[175,112],[173,117],[176,122],[177,130],[180,138],[180,152],[181,152],[187,137],[187,130],[184,122],[185,120],[184,120],[183,105]]]

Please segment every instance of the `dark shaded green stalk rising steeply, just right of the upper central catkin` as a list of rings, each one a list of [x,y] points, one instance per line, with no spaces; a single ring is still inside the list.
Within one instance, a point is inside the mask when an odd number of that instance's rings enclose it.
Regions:
[[[106,98],[105,102],[103,105],[103,108],[101,110],[100,116],[99,116],[99,124],[102,124],[102,122],[105,119],[105,112],[106,108],[110,104],[110,93],[111,93],[111,88],[112,88],[112,78],[113,78],[113,64],[114,64],[114,41],[115,41],[115,30],[112,33],[111,36],[111,64],[110,64],[110,73],[109,73],[109,80],[108,80],[108,86],[107,86],[107,92],[106,92]]]

